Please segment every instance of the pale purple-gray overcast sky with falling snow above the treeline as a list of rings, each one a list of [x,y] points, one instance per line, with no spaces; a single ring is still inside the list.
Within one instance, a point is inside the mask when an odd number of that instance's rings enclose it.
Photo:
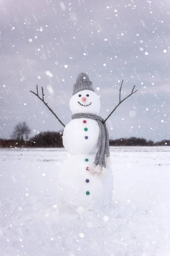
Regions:
[[[170,140],[169,0],[1,0],[0,137],[18,122],[32,133],[64,124],[80,72],[88,73],[106,118],[136,85],[137,93],[107,122],[110,137]],[[99,87],[99,90],[96,88]]]

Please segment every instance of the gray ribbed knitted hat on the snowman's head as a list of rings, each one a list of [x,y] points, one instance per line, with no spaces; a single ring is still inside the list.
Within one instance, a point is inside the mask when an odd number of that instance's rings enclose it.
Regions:
[[[77,76],[76,79],[76,83],[73,85],[73,95],[81,90],[92,90],[94,92],[92,82],[90,81],[88,75],[82,72],[79,73],[79,76]]]

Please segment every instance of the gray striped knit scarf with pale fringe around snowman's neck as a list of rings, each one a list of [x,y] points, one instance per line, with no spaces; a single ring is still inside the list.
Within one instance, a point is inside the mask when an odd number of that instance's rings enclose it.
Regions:
[[[109,133],[106,123],[101,116],[96,116],[94,114],[78,113],[71,116],[72,119],[76,118],[89,118],[96,120],[99,125],[99,145],[98,151],[94,163],[89,167],[88,171],[91,173],[98,173],[101,175],[103,173],[103,168],[106,168],[106,163],[110,162],[110,152],[109,152]],[[104,123],[103,123],[104,122]]]

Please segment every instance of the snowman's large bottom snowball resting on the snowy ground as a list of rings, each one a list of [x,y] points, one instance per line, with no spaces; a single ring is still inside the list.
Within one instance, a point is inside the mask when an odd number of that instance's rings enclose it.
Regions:
[[[70,155],[61,164],[58,177],[59,207],[99,209],[111,204],[113,173],[111,165],[105,175],[91,174],[86,168],[94,162],[96,154]]]

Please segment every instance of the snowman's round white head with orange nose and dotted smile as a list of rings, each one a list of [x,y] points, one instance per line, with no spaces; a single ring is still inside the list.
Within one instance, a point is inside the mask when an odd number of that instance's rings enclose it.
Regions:
[[[70,99],[70,109],[73,114],[88,113],[98,115],[100,99],[92,90],[81,90]]]

